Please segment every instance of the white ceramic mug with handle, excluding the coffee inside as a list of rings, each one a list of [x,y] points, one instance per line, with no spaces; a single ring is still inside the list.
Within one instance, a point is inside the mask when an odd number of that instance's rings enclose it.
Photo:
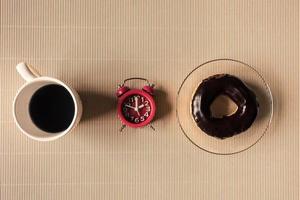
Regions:
[[[22,133],[37,141],[52,141],[71,132],[79,123],[82,115],[82,103],[78,93],[58,79],[40,76],[39,73],[26,63],[19,63],[16,68],[22,78],[26,80],[26,83],[19,89],[13,102],[14,120]],[[70,93],[74,102],[75,112],[71,124],[67,129],[58,133],[49,133],[38,128],[32,121],[29,112],[31,97],[38,89],[50,84],[64,87]]]

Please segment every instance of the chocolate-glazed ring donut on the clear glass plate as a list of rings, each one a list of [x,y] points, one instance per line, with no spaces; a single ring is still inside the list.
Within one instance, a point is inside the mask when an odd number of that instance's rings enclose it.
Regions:
[[[238,107],[230,116],[215,118],[210,105],[219,95],[228,96]],[[206,134],[224,139],[247,130],[254,122],[259,104],[240,79],[229,74],[217,74],[203,80],[192,100],[192,115],[198,127]]]

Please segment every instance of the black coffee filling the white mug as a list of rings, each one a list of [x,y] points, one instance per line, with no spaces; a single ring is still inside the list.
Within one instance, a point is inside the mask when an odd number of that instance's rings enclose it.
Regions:
[[[41,130],[58,133],[66,130],[74,118],[75,105],[71,94],[61,85],[51,84],[38,89],[29,103],[33,123]]]

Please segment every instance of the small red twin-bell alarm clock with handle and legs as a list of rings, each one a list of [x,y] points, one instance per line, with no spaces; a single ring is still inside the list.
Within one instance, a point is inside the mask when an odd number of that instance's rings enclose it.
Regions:
[[[147,82],[142,89],[130,89],[125,83],[130,80],[143,80]],[[144,78],[129,78],[119,85],[118,116],[123,124],[121,131],[126,126],[139,128],[149,125],[156,113],[156,105],[153,98],[154,85]],[[151,128],[153,128],[151,126]]]

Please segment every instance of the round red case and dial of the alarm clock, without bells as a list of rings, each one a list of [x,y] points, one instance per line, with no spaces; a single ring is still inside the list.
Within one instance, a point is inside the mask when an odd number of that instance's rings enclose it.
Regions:
[[[129,91],[124,95],[120,102],[123,123],[131,127],[149,124],[156,109],[152,96],[142,90]]]

